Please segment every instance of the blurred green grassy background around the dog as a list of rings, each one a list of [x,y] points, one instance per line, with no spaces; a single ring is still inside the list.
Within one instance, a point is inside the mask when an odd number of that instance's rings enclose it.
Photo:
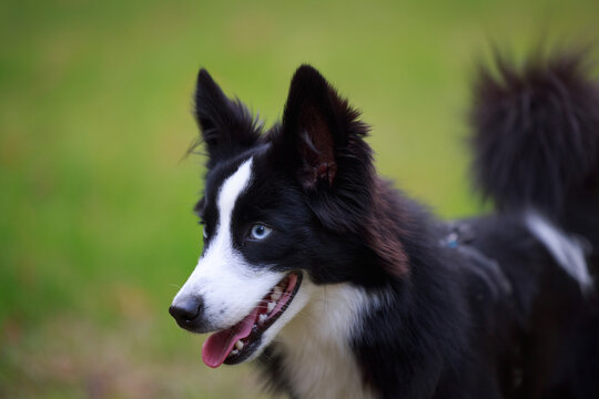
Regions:
[[[200,65],[268,123],[313,63],[379,171],[440,215],[469,190],[468,82],[490,43],[595,41],[589,1],[0,1],[0,397],[257,398],[166,309],[200,253]]]

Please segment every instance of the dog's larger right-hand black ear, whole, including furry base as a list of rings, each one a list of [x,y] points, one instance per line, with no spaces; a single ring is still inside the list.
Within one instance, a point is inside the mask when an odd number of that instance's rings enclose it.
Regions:
[[[374,178],[372,150],[363,140],[368,126],[359,113],[309,65],[292,79],[281,127],[273,137],[275,167],[292,174],[308,194],[322,224],[356,231]]]

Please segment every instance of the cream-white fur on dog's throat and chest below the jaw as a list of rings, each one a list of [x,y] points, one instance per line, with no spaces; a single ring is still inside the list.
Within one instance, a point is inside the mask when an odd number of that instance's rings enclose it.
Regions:
[[[294,392],[301,398],[373,397],[349,348],[351,337],[363,328],[359,315],[372,301],[347,284],[309,284],[309,289],[308,304],[278,336]]]

